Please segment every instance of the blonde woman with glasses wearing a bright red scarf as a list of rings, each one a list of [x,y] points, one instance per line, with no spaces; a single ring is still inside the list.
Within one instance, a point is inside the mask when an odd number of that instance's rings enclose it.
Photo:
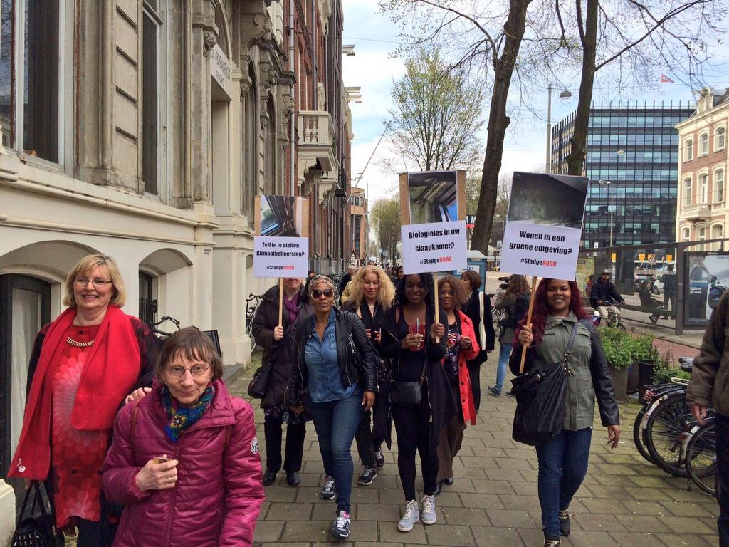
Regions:
[[[79,547],[106,546],[111,509],[101,498],[114,416],[135,388],[149,386],[158,341],[125,314],[125,290],[111,257],[83,257],[66,277],[66,308],[36,336],[28,400],[9,477],[44,481],[59,530]],[[102,527],[104,523],[104,527]]]

